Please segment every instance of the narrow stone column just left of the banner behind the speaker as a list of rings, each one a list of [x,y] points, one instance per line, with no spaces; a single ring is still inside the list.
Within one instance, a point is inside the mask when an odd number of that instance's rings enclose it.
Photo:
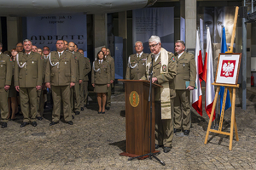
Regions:
[[[125,79],[127,65],[127,14],[119,12],[119,37],[123,37],[123,77]]]

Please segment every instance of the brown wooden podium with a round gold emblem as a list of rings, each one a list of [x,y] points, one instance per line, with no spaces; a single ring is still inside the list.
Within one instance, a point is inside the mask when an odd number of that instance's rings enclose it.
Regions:
[[[122,80],[125,82],[125,128],[126,152],[120,156],[142,156],[150,152],[150,103],[148,102],[150,82],[146,80]],[[152,133],[151,152],[154,149],[154,88],[159,84],[152,83]],[[143,157],[142,159],[148,156]]]

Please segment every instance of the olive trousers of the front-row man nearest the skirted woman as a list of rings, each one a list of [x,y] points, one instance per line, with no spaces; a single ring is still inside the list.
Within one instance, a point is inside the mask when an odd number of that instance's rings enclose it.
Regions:
[[[70,88],[67,86],[51,86],[53,98],[52,122],[59,122],[61,116],[61,99],[63,107],[63,116],[65,122],[72,120],[70,109]]]

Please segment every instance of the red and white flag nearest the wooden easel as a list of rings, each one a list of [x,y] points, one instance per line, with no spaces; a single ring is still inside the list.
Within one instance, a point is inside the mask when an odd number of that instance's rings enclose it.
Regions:
[[[212,42],[210,30],[207,27],[207,52],[205,56],[205,65],[203,69],[203,80],[206,82],[206,103],[205,108],[207,115],[210,117],[212,112],[212,104],[215,97],[215,91],[213,83],[213,66],[212,66]],[[215,110],[215,108],[213,108]],[[215,111],[212,121],[215,119]]]

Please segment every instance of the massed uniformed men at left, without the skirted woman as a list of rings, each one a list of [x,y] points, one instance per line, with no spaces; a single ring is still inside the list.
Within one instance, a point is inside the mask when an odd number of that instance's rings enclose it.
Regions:
[[[67,124],[73,125],[74,116],[84,111],[88,104],[90,59],[84,57],[83,49],[78,49],[74,42],[57,40],[55,46],[57,50],[50,52],[49,47],[37,48],[26,39],[18,42],[11,52],[2,53],[0,42],[2,128],[7,127],[9,120],[15,120],[18,104],[23,115],[20,127],[28,124],[36,127],[37,119],[43,119],[47,93],[53,103],[50,126],[60,121],[61,114]],[[107,58],[109,50],[102,48],[102,51]],[[113,84],[113,80],[114,77],[109,83]],[[107,110],[111,105],[111,88],[109,91]]]

